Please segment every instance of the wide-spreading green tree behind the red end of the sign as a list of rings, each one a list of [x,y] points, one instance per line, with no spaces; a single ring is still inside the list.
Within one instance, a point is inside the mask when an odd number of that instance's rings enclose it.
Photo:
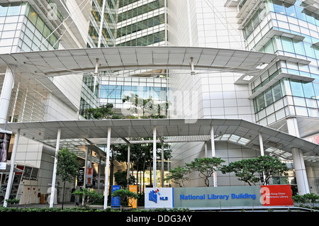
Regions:
[[[269,184],[269,179],[273,176],[286,175],[288,167],[280,159],[265,155],[254,159],[230,162],[228,166],[222,166],[220,171],[223,174],[235,173],[239,181],[244,181],[252,186],[252,184],[256,185],[259,181],[263,185]],[[261,175],[264,175],[264,177]]]

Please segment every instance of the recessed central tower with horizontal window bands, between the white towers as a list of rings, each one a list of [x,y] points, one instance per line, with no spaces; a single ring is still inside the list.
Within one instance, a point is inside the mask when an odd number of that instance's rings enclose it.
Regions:
[[[107,45],[109,47],[165,45],[167,26],[164,23],[164,2],[164,0],[106,1],[105,11],[113,10],[114,13],[104,14],[103,30],[111,29],[113,33],[111,35],[106,32],[109,35],[103,35],[101,43],[111,43]],[[103,6],[101,1],[100,6]],[[93,7],[96,8],[99,7]],[[101,10],[100,8],[99,11]],[[92,15],[96,16],[99,13],[92,11]],[[94,17],[94,23],[96,18],[99,16]],[[89,33],[91,34],[91,26]],[[99,104],[113,103],[116,113],[123,113],[122,110],[129,107],[128,104],[123,105],[123,95],[130,94],[137,94],[142,98],[152,97],[156,103],[162,103],[167,100],[166,78],[165,70],[161,69],[102,72]]]

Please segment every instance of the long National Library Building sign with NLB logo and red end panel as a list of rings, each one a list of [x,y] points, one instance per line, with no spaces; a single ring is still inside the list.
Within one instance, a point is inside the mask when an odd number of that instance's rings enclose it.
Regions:
[[[293,205],[290,185],[147,188],[145,208]]]

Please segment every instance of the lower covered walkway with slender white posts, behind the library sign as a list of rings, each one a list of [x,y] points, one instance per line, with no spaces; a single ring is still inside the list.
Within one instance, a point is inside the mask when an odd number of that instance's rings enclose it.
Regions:
[[[3,124],[0,124],[4,126]],[[74,152],[79,152],[83,147],[95,149],[106,162],[106,183],[108,188],[109,153],[113,144],[131,144],[149,142],[156,149],[157,143],[172,142],[196,142],[210,141],[212,152],[215,156],[215,142],[227,141],[237,145],[259,149],[261,154],[275,154],[284,159],[293,159],[293,152],[298,152],[303,174],[306,171],[303,160],[318,162],[319,145],[303,140],[299,137],[266,128],[262,125],[250,123],[245,120],[235,119],[122,119],[122,120],[65,120],[28,123],[8,123],[7,129],[16,133],[11,157],[11,166],[14,159],[20,135],[42,142],[45,145],[55,147],[56,152],[68,145]],[[212,139],[212,137],[214,139]],[[145,139],[150,138],[150,139]],[[96,145],[106,145],[103,152]],[[84,153],[84,152],[83,152]],[[156,152],[153,152],[156,158]],[[56,159],[53,169],[52,184],[56,180]],[[130,154],[128,154],[128,162]],[[295,167],[296,168],[296,167]],[[153,170],[156,170],[156,161],[153,161]],[[156,174],[154,174],[156,175]],[[9,175],[9,180],[13,172]],[[296,177],[298,180],[298,173]],[[153,180],[153,186],[156,186]],[[214,186],[217,179],[214,177]],[[298,184],[298,186],[308,186]],[[8,192],[9,189],[7,189]],[[54,198],[54,186],[52,186],[52,200]],[[53,205],[53,201],[50,202]],[[105,196],[104,203],[107,203]],[[106,208],[106,204],[104,208]]]

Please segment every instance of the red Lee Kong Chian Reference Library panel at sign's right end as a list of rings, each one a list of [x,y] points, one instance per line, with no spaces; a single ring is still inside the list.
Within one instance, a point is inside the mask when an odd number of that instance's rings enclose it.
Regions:
[[[262,205],[293,205],[290,185],[262,186]]]

